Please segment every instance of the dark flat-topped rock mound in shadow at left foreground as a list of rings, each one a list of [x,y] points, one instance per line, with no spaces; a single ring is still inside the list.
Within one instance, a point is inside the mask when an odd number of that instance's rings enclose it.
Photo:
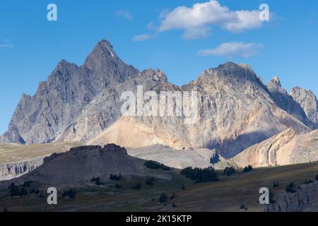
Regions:
[[[127,155],[126,149],[109,144],[71,148],[69,152],[52,154],[45,157],[43,165],[22,177],[8,182],[16,184],[25,181],[35,181],[42,184],[59,186],[87,182],[92,177],[108,180],[110,174],[144,176],[146,175],[145,160]]]

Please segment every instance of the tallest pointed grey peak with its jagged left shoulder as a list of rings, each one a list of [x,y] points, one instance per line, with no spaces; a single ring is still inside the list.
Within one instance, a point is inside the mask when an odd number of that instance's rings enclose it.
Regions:
[[[64,59],[59,61],[33,97],[21,98],[0,142],[54,141],[98,93],[134,78],[138,72],[117,57],[107,40],[98,42],[80,67]]]

